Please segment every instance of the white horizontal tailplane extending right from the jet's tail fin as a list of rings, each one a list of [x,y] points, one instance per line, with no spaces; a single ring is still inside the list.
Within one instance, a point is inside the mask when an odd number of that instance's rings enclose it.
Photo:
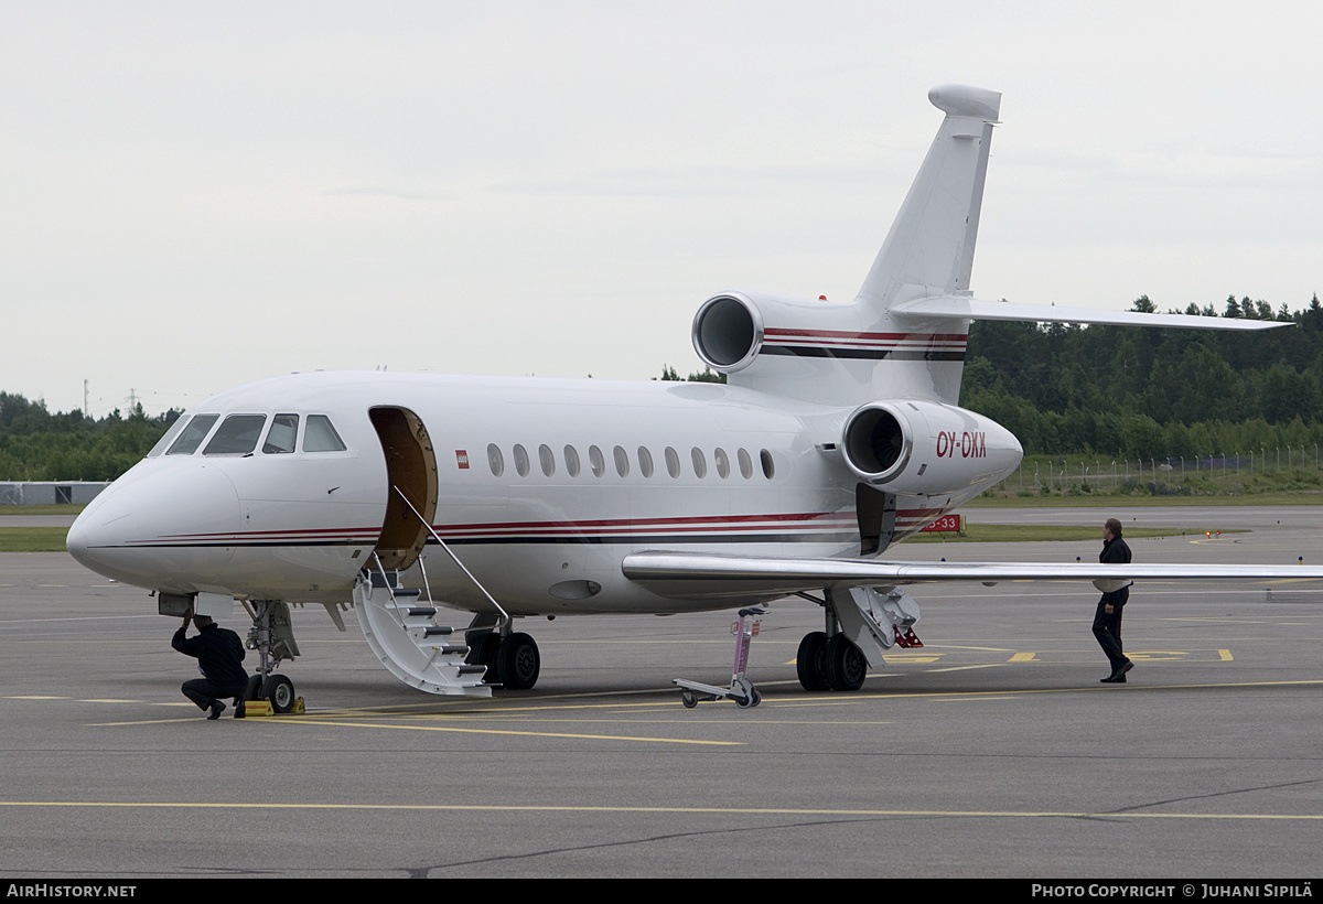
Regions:
[[[1085,307],[1052,307],[1049,304],[1015,304],[980,302],[960,295],[919,298],[892,306],[892,315],[916,320],[951,318],[957,320],[1027,320],[1035,323],[1103,323],[1117,327],[1175,327],[1177,330],[1273,330],[1289,327],[1289,320],[1249,320],[1208,318],[1191,314],[1140,314],[1139,311],[1102,311]]]

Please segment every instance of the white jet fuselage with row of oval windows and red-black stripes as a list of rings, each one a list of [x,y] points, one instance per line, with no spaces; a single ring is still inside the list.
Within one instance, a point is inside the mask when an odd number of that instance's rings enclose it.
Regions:
[[[658,596],[626,580],[620,560],[859,556],[857,478],[837,446],[849,413],[706,383],[277,377],[181,417],[78,518],[69,549],[153,590],[343,602],[398,518],[392,494],[423,495],[410,491],[411,454],[435,471],[435,535],[511,614],[726,608],[742,601]],[[384,424],[405,417],[401,441]],[[999,471],[1019,462],[1012,451]],[[900,496],[897,539],[990,480]],[[425,539],[433,596],[488,609]]]

